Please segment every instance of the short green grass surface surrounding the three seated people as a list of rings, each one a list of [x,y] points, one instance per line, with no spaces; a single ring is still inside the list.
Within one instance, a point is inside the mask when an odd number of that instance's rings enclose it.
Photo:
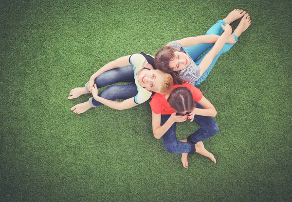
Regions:
[[[291,1],[0,4],[1,202],[292,201]],[[154,138],[148,102],[70,110],[90,97],[70,90],[104,64],[202,35],[235,8],[252,25],[199,86],[218,111],[204,141],[217,164],[194,154],[183,168]],[[178,139],[198,128],[178,124]]]

